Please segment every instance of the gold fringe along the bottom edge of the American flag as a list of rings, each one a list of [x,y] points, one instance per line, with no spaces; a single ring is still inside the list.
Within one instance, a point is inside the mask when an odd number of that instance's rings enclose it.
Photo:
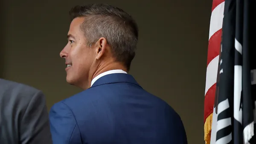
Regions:
[[[204,123],[204,141],[205,144],[210,144],[212,131],[212,113],[206,118]]]

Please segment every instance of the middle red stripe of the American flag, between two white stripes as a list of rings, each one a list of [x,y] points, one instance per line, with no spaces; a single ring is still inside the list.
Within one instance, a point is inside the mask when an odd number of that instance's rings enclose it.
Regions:
[[[207,66],[208,64],[219,55],[221,49],[221,30],[215,32],[208,43],[208,55],[207,55]]]

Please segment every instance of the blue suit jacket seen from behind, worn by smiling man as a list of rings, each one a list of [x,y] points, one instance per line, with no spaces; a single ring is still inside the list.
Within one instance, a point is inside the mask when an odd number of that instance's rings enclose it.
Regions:
[[[54,144],[187,144],[180,116],[128,74],[109,74],[55,104]]]

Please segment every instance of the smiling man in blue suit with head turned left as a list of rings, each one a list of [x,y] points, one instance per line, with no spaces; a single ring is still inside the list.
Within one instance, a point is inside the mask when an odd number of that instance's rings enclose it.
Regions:
[[[187,144],[180,116],[127,74],[138,28],[122,9],[75,6],[61,51],[67,82],[84,89],[50,110],[54,144]]]

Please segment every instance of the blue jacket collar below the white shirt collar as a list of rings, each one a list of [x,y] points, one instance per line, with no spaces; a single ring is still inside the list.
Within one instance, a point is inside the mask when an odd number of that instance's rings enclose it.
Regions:
[[[97,81],[94,82],[94,84],[91,87],[113,83],[131,83],[140,86],[132,75],[124,73],[114,73],[99,78]]]

